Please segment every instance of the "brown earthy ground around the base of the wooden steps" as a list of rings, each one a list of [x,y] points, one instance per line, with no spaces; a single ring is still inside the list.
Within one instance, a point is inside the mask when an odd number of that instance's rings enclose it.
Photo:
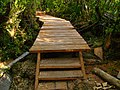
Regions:
[[[16,63],[10,70],[13,81],[10,90],[34,90],[36,55],[29,55],[21,62]],[[102,70],[116,77],[116,70],[120,70],[120,61],[109,61],[108,63],[98,64],[95,60],[85,61],[87,80],[73,81],[52,81],[40,82],[39,90],[93,90],[95,82],[103,83],[102,79],[92,73],[94,67],[99,67]],[[109,89],[117,90],[117,89]]]

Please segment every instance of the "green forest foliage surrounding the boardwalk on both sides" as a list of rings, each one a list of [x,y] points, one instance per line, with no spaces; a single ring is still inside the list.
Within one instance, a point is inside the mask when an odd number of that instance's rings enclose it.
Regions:
[[[119,9],[119,0],[1,0],[0,59],[14,59],[31,47],[39,31],[36,10],[70,20],[91,47],[102,46],[111,56],[120,32]]]

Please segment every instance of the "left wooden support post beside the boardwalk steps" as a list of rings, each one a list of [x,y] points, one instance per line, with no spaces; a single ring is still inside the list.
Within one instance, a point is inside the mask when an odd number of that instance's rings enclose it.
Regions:
[[[38,88],[38,77],[39,77],[39,68],[40,67],[40,53],[37,55],[37,64],[36,64],[36,76],[35,76],[35,90]]]

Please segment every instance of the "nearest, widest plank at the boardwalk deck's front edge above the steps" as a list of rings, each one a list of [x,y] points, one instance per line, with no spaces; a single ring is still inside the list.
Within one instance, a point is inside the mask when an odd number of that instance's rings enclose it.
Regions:
[[[30,52],[77,52],[90,50],[88,45],[32,46]]]

